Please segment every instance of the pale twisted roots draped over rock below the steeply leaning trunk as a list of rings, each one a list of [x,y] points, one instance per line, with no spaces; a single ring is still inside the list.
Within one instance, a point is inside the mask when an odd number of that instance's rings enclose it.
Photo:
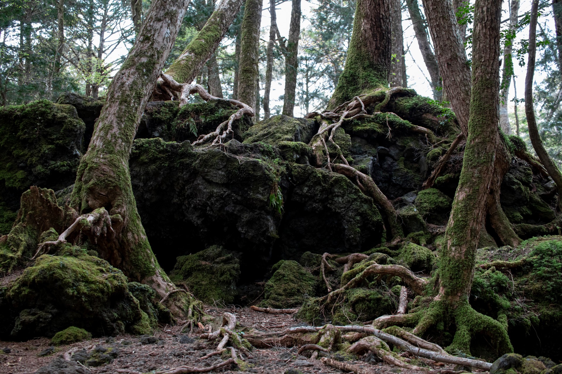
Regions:
[[[176,98],[176,96],[179,96],[180,107],[188,103],[188,98],[190,94],[197,93],[205,101],[226,100],[230,104],[233,104],[239,108],[237,112],[232,114],[232,116],[230,116],[226,121],[219,124],[219,126],[217,126],[214,132],[199,136],[197,140],[192,143],[192,145],[205,144],[207,141],[211,140],[212,138],[214,138],[214,140],[212,141],[212,145],[223,144],[226,141],[226,138],[234,134],[234,131],[232,129],[232,124],[234,121],[242,118],[244,114],[246,114],[248,117],[253,117],[255,114],[253,109],[249,105],[246,105],[241,101],[234,100],[234,99],[220,99],[217,98],[216,96],[212,96],[201,85],[197,85],[197,84],[192,85],[189,83],[180,84],[176,82],[171,76],[164,73],[161,74],[161,77],[162,80],[164,80],[166,87],[169,87],[169,89],[171,90],[170,100],[173,100],[174,98]]]

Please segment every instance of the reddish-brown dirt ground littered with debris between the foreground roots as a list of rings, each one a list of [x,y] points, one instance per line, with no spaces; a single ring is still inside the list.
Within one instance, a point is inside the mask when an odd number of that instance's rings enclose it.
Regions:
[[[209,307],[206,312],[213,316],[221,316],[223,312],[233,313],[239,324],[254,327],[262,331],[283,331],[292,326],[302,326],[302,322],[296,321],[291,315],[272,315],[259,313],[249,308],[227,308],[218,309]],[[162,326],[155,331],[154,338],[148,336],[119,335],[114,338],[96,338],[81,343],[51,346],[47,338],[36,338],[24,342],[0,340],[0,373],[35,373],[38,374],[89,374],[89,373],[117,373],[118,369],[134,372],[156,373],[169,370],[178,366],[209,367],[223,362],[228,357],[223,354],[215,355],[201,361],[199,358],[215,350],[218,341],[208,341],[198,338],[202,331],[194,330],[191,334],[182,334],[182,324],[176,326]],[[111,349],[108,349],[111,348]],[[100,353],[111,352],[112,361],[102,366],[88,366],[76,363],[76,361],[64,361],[64,353],[74,349],[74,357],[81,352]],[[226,366],[212,372],[221,373],[302,373],[331,374],[343,373],[343,371],[332,368],[320,362],[297,354],[298,348],[271,347],[269,349],[253,349],[253,358],[244,358],[247,365],[244,367]],[[54,351],[54,352],[51,352]],[[41,355],[47,354],[47,355]],[[241,353],[239,353],[240,355]],[[338,359],[337,354],[332,358]],[[339,358],[341,359],[341,358]],[[373,354],[365,354],[360,357],[361,361],[350,363],[360,364],[372,373],[414,373],[411,370],[399,369],[386,363],[379,362]],[[453,369],[452,365],[437,364],[429,359],[420,359],[432,368]],[[478,371],[475,371],[478,372]]]

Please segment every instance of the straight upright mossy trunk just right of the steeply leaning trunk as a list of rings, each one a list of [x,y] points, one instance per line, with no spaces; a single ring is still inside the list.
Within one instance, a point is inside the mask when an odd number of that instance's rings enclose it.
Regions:
[[[238,67],[238,101],[256,109],[262,0],[246,0]]]

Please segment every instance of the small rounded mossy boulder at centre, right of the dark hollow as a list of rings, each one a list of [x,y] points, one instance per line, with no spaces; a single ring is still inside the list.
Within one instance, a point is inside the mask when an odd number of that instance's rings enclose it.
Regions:
[[[261,306],[271,308],[300,307],[314,295],[315,280],[297,261],[281,260],[274,265],[273,276],[265,283]]]

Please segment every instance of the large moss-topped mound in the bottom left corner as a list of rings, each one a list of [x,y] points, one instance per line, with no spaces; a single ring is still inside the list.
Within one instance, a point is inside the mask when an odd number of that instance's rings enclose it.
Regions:
[[[2,289],[1,339],[53,336],[69,326],[96,336],[151,331],[120,270],[81,248],[69,250],[74,256],[40,256]]]

